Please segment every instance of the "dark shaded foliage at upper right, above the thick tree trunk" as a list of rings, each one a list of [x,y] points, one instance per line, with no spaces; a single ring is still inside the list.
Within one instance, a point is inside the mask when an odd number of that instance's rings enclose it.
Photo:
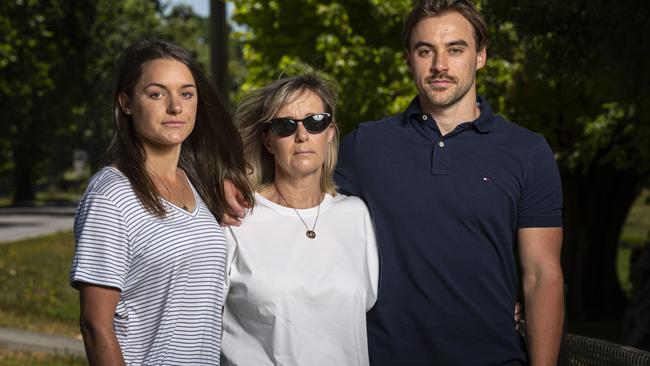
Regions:
[[[650,70],[644,1],[483,1],[490,24],[514,42],[506,114],[544,133],[562,166],[650,173]]]

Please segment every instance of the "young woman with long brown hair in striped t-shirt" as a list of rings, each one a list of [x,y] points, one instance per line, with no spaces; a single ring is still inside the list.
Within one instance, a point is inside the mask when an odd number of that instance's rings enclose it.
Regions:
[[[118,63],[115,132],[75,218],[70,281],[92,365],[218,364],[222,182],[251,197],[242,144],[196,61],[146,40]]]

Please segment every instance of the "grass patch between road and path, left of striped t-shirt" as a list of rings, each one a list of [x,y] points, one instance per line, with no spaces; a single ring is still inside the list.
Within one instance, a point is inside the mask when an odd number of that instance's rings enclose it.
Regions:
[[[79,334],[79,297],[68,284],[70,232],[0,246],[0,326]]]

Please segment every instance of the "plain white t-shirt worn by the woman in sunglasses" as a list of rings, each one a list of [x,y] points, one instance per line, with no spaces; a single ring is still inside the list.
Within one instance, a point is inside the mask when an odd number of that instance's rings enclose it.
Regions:
[[[226,230],[223,364],[368,365],[379,264],[363,201],[326,195],[309,239],[292,208],[255,199],[242,226]],[[317,210],[298,210],[310,228]]]

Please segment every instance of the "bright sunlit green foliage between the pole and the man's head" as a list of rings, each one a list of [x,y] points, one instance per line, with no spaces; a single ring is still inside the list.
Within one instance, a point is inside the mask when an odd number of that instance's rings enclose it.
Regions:
[[[247,31],[248,75],[242,92],[314,67],[340,86],[343,133],[359,122],[404,109],[414,93],[399,46],[404,1],[235,0],[234,20]]]

